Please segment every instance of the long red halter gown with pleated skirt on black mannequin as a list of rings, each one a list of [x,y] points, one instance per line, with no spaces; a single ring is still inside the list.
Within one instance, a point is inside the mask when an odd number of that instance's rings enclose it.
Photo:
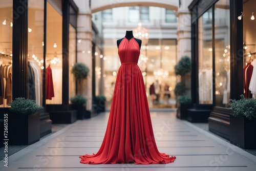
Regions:
[[[137,65],[140,47],[132,38],[120,42],[117,73],[105,136],[98,153],[82,155],[84,164],[159,164],[175,156],[160,153],[154,138],[143,76]]]

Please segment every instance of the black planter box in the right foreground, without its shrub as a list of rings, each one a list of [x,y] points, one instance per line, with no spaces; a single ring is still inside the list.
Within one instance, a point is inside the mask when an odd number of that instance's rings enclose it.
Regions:
[[[244,149],[256,148],[256,118],[230,115],[230,142]]]

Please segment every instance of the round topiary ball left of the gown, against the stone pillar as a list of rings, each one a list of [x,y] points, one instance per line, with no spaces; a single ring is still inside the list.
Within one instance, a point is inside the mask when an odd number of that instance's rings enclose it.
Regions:
[[[86,79],[89,73],[89,68],[83,63],[76,63],[71,73],[74,74],[76,79]]]

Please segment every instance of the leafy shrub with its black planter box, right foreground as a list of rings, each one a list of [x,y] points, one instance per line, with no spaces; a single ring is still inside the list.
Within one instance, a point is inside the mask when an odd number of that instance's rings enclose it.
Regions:
[[[230,142],[239,147],[256,148],[256,99],[230,99]]]

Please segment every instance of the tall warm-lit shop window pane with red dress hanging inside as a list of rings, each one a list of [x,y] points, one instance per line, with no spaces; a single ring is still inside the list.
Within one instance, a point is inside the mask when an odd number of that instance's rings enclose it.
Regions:
[[[62,16],[47,2],[46,104],[62,103]]]

